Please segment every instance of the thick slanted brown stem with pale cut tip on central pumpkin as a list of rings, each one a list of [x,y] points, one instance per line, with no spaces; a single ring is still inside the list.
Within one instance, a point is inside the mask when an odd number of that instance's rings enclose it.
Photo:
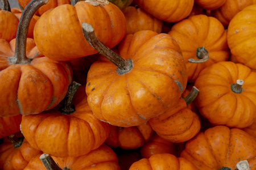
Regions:
[[[133,61],[131,59],[123,59],[97,39],[92,25],[89,23],[82,23],[82,32],[84,33],[85,39],[94,49],[118,67],[115,71],[117,71],[119,75],[129,73],[131,69],[133,69]]]

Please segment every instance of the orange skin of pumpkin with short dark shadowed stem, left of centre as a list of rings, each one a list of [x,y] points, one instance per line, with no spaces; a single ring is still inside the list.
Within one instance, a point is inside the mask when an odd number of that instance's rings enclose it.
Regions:
[[[88,154],[108,138],[109,124],[93,115],[86,97],[75,108],[70,115],[47,111],[23,116],[20,125],[24,137],[33,147],[52,156]]]

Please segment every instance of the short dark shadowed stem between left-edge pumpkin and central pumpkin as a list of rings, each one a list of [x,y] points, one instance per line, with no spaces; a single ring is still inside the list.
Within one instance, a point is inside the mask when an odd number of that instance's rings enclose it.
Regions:
[[[63,114],[72,114],[76,112],[75,106],[72,105],[73,97],[77,91],[77,89],[81,86],[81,84],[77,82],[72,82],[68,87],[67,95],[64,99],[64,105],[59,109],[59,111]]]

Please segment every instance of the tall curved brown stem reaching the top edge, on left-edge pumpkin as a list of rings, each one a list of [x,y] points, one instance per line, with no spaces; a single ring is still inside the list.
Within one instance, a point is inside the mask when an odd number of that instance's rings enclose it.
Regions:
[[[49,0],[32,0],[24,8],[20,16],[19,25],[16,33],[15,54],[9,57],[9,61],[15,64],[30,63],[31,59],[26,56],[27,32],[30,21],[39,7],[45,5]]]

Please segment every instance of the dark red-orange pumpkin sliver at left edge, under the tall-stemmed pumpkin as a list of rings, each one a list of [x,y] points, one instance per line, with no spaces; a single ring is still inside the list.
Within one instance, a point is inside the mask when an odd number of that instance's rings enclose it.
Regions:
[[[7,137],[18,131],[22,116],[0,117],[0,138]]]

